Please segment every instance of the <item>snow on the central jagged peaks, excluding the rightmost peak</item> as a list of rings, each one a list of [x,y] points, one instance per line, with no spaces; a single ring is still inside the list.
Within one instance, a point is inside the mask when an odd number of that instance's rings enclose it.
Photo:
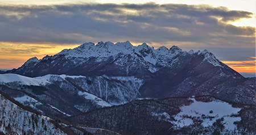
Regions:
[[[65,57],[97,57],[97,60],[100,61],[101,58],[109,56],[117,56],[118,54],[132,54],[137,53],[143,57],[143,59],[151,64],[155,65],[162,59],[171,59],[182,51],[180,48],[174,46],[167,49],[166,47],[159,47],[154,49],[154,47],[148,47],[146,43],[138,45],[138,47],[133,46],[129,41],[123,43],[113,44],[111,42],[99,42],[94,45],[94,43],[84,43],[74,49],[64,49],[56,55],[64,54]]]

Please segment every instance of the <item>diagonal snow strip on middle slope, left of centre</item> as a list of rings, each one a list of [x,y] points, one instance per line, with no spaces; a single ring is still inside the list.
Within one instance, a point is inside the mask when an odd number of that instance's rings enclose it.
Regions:
[[[96,102],[98,105],[100,105],[102,107],[113,106],[112,104],[109,104],[108,102],[105,102],[101,98],[98,98],[97,96],[95,96],[93,94],[89,94],[88,92],[79,91],[78,94],[81,95],[81,96],[84,96],[84,98],[86,98],[86,99],[94,100],[94,102]]]

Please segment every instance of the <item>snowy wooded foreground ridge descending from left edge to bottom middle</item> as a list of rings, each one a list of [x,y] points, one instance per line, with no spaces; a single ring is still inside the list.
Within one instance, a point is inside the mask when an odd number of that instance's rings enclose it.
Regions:
[[[17,100],[24,101],[23,97]],[[30,99],[33,100],[33,99]],[[101,128],[77,128],[73,125],[67,125],[64,123],[57,123],[47,116],[38,115],[29,111],[26,111],[10,100],[6,99],[0,94],[0,134],[109,134],[120,135],[119,133],[111,130]],[[52,121],[55,121],[53,123]]]

